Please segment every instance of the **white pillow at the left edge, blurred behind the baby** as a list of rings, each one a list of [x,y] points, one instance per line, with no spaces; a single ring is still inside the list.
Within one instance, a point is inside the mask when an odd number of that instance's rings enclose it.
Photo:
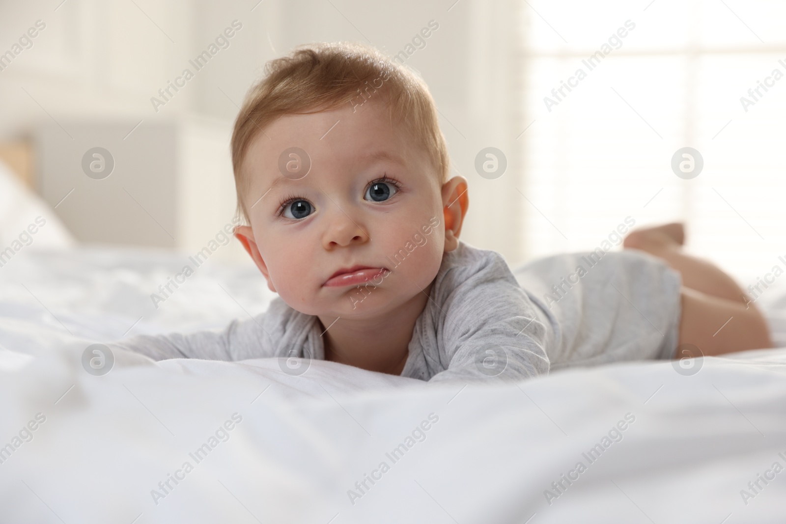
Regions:
[[[76,240],[55,211],[0,160],[0,251],[74,247]]]

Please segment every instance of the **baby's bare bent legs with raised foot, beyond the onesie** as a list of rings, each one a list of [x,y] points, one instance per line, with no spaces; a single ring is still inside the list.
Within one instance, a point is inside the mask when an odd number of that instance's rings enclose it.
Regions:
[[[682,276],[679,343],[697,346],[705,355],[771,347],[762,313],[736,282],[710,262],[685,255],[681,224],[640,229],[625,247],[663,258]]]

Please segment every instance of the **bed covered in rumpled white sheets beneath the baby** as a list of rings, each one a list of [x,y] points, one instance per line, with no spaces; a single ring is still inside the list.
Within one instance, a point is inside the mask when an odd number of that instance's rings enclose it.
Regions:
[[[784,348],[493,386],[123,352],[90,372],[94,344],[273,298],[209,261],[154,303],[185,257],[33,243],[0,268],[0,521],[782,522]],[[786,293],[762,304],[786,346]]]

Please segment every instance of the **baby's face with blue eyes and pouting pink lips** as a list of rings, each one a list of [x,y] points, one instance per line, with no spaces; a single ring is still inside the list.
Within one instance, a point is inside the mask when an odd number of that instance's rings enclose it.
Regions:
[[[293,147],[310,159],[305,176],[302,154],[280,162]],[[384,104],[281,117],[252,141],[244,169],[244,234],[289,306],[362,319],[428,293],[445,247],[443,185]]]

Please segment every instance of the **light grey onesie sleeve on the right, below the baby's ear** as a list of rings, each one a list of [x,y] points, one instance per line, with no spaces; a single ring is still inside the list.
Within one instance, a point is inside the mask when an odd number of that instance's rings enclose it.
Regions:
[[[546,326],[505,259],[494,251],[451,268],[435,297],[443,313],[440,358],[449,362],[430,382],[521,380],[549,372]]]

